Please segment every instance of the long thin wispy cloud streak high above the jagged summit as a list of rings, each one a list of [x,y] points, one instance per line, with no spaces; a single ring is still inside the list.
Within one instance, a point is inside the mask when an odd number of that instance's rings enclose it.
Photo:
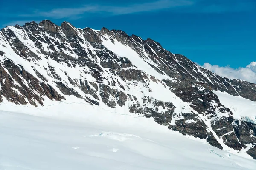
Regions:
[[[52,18],[65,18],[79,16],[84,13],[107,12],[112,15],[132,14],[137,12],[157,11],[179,6],[191,6],[191,0],[158,0],[149,3],[136,3],[128,6],[84,5],[79,8],[56,8],[50,11],[35,11],[34,14],[22,14],[20,17],[44,16]]]

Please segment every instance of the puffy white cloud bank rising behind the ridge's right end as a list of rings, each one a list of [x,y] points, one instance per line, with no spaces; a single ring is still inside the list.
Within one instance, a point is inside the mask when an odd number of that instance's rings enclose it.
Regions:
[[[239,67],[237,69],[231,68],[229,65],[226,67],[220,67],[218,65],[211,65],[204,63],[204,68],[213,73],[220,75],[221,77],[227,77],[229,79],[242,79],[248,82],[256,83],[256,62],[253,61],[245,68]]]

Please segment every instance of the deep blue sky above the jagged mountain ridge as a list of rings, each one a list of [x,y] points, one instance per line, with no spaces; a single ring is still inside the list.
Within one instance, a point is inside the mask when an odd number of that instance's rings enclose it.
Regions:
[[[239,69],[256,61],[256,0],[7,0],[0,16],[0,28],[49,19],[121,29],[200,65]]]

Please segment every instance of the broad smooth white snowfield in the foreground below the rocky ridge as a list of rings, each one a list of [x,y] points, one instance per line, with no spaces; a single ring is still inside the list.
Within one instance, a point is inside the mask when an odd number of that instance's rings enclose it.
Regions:
[[[93,107],[1,103],[0,170],[255,170],[247,154],[212,147],[152,118]]]

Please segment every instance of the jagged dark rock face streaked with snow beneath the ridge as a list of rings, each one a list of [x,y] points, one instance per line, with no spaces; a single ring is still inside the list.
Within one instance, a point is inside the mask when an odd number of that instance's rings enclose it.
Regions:
[[[235,119],[213,92],[256,101],[256,85],[213,74],[149,38],[43,20],[3,28],[0,58],[0,102],[37,107],[75,96],[256,159],[256,124]]]

